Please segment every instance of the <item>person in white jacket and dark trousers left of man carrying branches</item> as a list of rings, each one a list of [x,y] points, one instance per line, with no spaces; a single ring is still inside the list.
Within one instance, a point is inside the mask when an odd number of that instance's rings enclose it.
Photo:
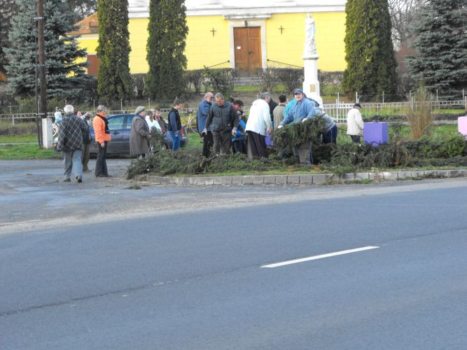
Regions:
[[[245,130],[248,135],[246,148],[249,158],[267,158],[266,132],[272,132],[270,107],[265,101],[267,95],[269,94],[260,94],[260,98],[253,101],[246,122]]]

